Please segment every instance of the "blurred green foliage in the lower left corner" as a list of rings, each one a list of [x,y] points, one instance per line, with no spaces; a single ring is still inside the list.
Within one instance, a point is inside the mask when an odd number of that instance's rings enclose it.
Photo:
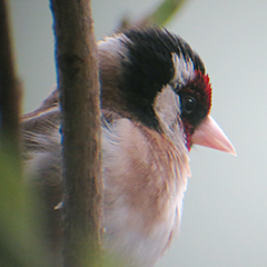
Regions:
[[[0,144],[0,266],[49,266],[30,211],[21,166],[7,140]]]

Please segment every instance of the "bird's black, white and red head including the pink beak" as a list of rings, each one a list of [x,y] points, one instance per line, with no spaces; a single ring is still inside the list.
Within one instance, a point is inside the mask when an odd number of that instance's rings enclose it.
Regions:
[[[235,155],[210,117],[211,86],[199,56],[166,29],[130,29],[98,43],[102,108],[164,135]]]

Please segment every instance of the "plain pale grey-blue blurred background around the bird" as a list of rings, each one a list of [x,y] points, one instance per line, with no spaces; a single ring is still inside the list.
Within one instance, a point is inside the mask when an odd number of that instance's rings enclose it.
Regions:
[[[159,2],[92,0],[97,40]],[[48,0],[10,0],[10,8],[28,112],[56,83],[52,18]],[[189,0],[166,28],[202,58],[211,115],[238,156],[194,147],[180,235],[157,267],[266,267],[267,1]]]

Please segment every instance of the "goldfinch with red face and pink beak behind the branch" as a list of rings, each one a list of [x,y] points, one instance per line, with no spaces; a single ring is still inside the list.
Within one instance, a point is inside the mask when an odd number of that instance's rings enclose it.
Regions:
[[[165,28],[131,27],[97,43],[101,93],[103,249],[121,266],[152,267],[179,233],[200,145],[235,148],[210,116],[211,83],[198,53]],[[24,172],[42,196],[40,214],[61,240],[61,111],[56,88],[22,117]]]

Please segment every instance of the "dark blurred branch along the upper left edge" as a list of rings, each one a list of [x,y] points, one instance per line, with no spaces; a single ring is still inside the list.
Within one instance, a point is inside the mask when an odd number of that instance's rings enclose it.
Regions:
[[[0,0],[0,125],[1,136],[19,151],[19,87],[11,52],[8,7]]]

